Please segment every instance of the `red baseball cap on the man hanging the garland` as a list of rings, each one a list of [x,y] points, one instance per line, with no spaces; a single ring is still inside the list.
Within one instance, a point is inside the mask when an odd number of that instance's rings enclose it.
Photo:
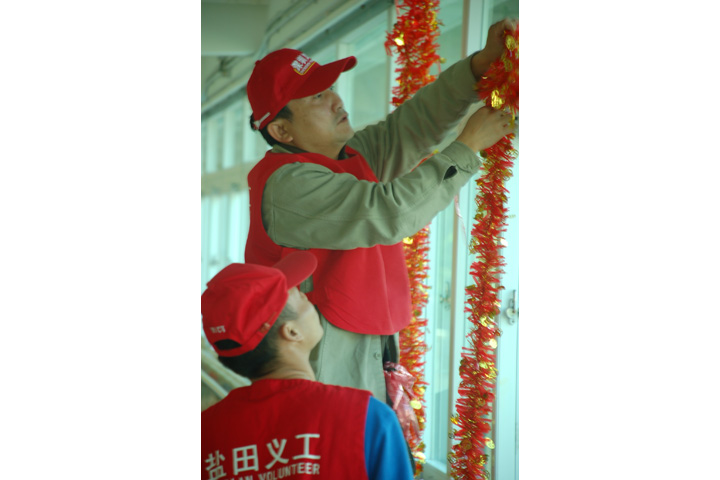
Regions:
[[[353,68],[355,57],[320,65],[300,50],[283,48],[255,62],[247,84],[256,130],[264,128],[290,100],[327,90],[342,72]]]

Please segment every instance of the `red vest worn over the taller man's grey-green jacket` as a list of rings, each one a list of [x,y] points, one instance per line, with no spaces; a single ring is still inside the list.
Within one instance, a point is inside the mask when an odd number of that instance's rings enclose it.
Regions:
[[[250,230],[245,261],[273,265],[294,251],[274,243],[262,223],[262,194],[267,179],[288,163],[322,165],[335,173],[377,182],[367,161],[345,147],[350,158],[332,160],[318,153],[271,153],[250,171]],[[320,313],[336,327],[370,335],[392,335],[410,323],[410,282],[401,243],[353,250],[311,248],[318,259],[313,290],[307,293]]]

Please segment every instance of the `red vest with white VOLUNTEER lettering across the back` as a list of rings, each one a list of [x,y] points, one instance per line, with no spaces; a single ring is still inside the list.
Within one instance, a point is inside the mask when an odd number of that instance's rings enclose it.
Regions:
[[[202,412],[203,480],[367,480],[370,392],[259,380]]]

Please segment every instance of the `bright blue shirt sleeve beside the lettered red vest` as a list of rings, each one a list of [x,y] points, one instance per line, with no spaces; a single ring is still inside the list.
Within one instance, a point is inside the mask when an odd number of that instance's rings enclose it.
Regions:
[[[375,397],[365,419],[365,466],[370,480],[412,480],[408,446],[395,412]]]

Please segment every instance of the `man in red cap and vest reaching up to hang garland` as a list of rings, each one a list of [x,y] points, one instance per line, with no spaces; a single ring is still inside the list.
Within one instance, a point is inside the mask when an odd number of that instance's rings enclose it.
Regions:
[[[474,86],[514,28],[510,20],[490,27],[483,50],[359,132],[332,89],[354,57],[320,65],[282,49],[256,63],[247,84],[251,124],[272,150],[248,175],[245,260],[272,265],[294,250],[317,257],[301,290],[325,331],[311,355],[319,381],[386,398],[383,361],[397,361],[394,334],[411,319],[402,239],[452,201],[478,171],[477,152],[513,131],[511,117],[481,108],[456,141],[418,163],[478,101]]]

